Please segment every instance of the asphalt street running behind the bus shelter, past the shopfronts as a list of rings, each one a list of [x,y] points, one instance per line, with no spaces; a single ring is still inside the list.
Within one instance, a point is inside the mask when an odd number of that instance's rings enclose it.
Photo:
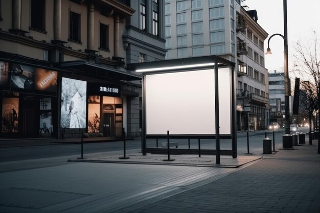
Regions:
[[[299,131],[307,132],[306,127],[301,127]],[[262,153],[263,139],[267,133],[267,137],[273,138],[272,131],[255,131],[249,132],[249,152],[254,154]],[[282,145],[282,135],[284,129],[275,131],[275,145]],[[158,140],[158,145],[166,139]],[[179,148],[188,148],[188,140],[178,140]],[[147,147],[155,147],[155,139],[149,139]],[[126,150],[140,150],[141,140],[128,140],[126,143]],[[191,140],[191,149],[198,149],[198,140]],[[201,139],[201,149],[215,149],[215,140]],[[231,139],[220,139],[220,149],[231,150]],[[237,133],[237,149],[238,154],[247,153],[247,135],[246,132]],[[103,152],[123,151],[123,142],[108,142],[108,143],[89,143],[84,144],[84,154],[94,154]],[[9,147],[0,149],[0,162],[42,159],[52,157],[62,157],[70,155],[80,155],[81,145],[78,144],[52,144],[48,146],[29,146],[29,147]]]

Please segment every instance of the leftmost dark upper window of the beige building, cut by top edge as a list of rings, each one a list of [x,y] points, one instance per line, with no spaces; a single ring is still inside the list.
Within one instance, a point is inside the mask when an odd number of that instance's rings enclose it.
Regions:
[[[31,28],[45,31],[45,1],[31,0]]]

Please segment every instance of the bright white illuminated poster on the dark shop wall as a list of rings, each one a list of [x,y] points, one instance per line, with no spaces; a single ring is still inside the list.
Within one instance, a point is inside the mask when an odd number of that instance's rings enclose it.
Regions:
[[[62,78],[60,126],[84,129],[86,123],[86,82]]]

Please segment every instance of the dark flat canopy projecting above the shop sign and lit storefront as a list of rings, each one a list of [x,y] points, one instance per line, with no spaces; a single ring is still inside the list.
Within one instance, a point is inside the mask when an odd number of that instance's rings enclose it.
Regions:
[[[61,68],[80,70],[88,74],[97,74],[98,76],[115,80],[134,81],[142,79],[140,74],[131,72],[130,70],[123,72],[121,70],[105,67],[100,64],[90,63],[87,61],[64,61],[60,62],[58,66]]]

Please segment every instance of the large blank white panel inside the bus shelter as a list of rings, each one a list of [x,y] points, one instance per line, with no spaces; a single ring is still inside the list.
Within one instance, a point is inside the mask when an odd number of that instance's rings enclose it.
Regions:
[[[231,134],[231,71],[219,68],[220,134]],[[214,69],[146,75],[147,134],[215,134]]]

